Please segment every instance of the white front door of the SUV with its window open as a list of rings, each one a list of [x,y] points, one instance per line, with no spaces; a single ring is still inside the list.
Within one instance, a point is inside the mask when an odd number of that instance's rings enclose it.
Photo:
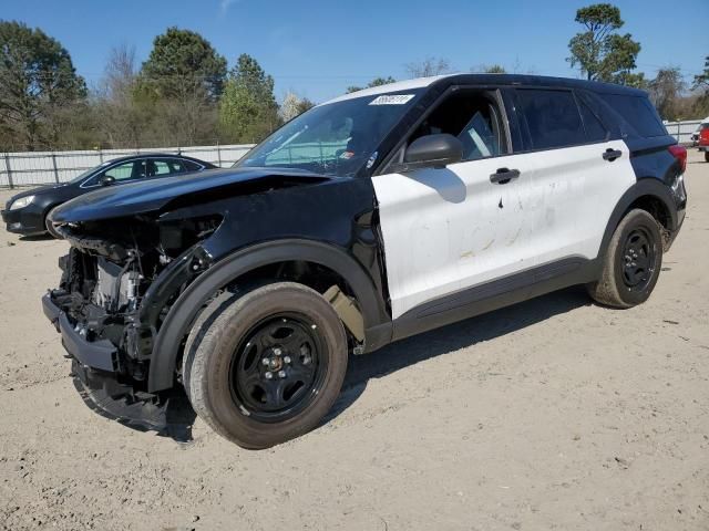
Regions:
[[[393,319],[530,266],[525,155],[510,154],[499,102],[493,92],[453,92],[408,139],[450,133],[463,162],[372,178]]]

